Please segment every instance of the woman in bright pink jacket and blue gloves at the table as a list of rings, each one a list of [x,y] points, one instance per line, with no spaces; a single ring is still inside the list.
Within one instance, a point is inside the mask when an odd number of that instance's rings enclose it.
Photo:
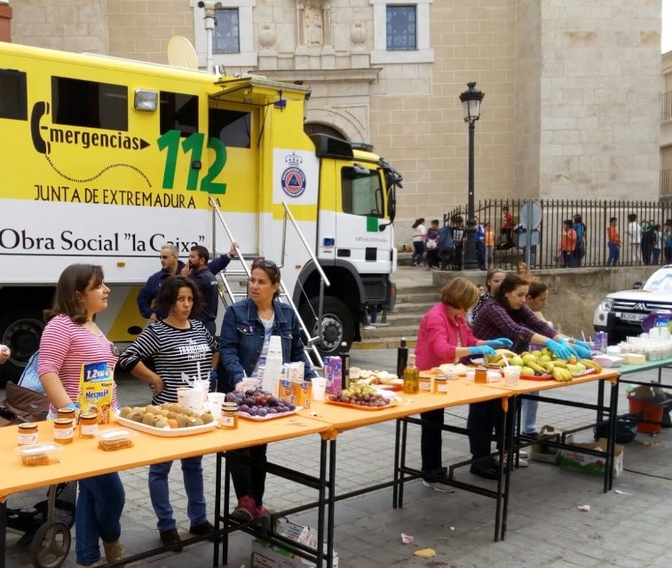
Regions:
[[[472,334],[464,314],[478,300],[478,288],[462,277],[454,278],[441,289],[441,301],[424,314],[418,329],[415,360],[420,369],[457,363],[473,355],[494,355],[494,350],[510,347],[505,337],[480,341]],[[441,427],[444,409],[421,414],[423,419],[420,452],[423,458],[423,485],[441,493],[454,489],[440,480],[446,475],[441,467]]]

